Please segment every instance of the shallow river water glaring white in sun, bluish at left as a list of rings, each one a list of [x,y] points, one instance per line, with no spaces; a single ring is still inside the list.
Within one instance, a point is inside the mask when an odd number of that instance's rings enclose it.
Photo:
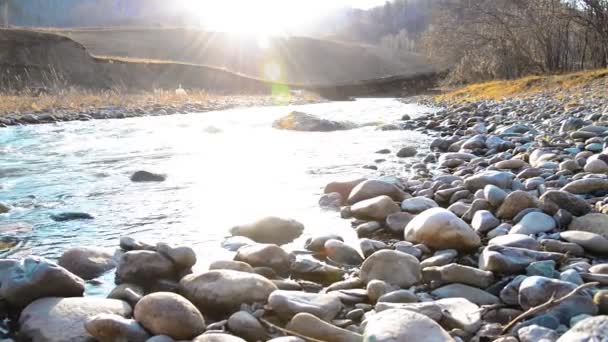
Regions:
[[[2,232],[20,242],[0,256],[55,259],[75,246],[115,249],[120,236],[193,247],[201,267],[228,258],[221,241],[230,227],[262,216],[294,218],[306,230],[356,241],[349,221],[319,209],[333,180],[407,170],[392,155],[429,138],[412,131],[281,131],[272,122],[292,110],[356,123],[397,122],[432,111],[394,99],[303,106],[253,107],[123,120],[69,122],[0,129],[0,202],[13,207],[0,224],[33,229]],[[379,171],[362,166],[375,159]],[[148,170],[162,183],[132,183]],[[94,220],[55,222],[51,214],[86,212]],[[111,282],[111,275],[106,277]],[[95,289],[89,289],[89,292]]]

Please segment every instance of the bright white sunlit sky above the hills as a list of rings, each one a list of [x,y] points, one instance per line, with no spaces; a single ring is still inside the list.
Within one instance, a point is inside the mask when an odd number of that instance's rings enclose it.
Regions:
[[[297,29],[337,8],[368,9],[385,0],[182,0],[183,6],[218,31],[276,35]]]

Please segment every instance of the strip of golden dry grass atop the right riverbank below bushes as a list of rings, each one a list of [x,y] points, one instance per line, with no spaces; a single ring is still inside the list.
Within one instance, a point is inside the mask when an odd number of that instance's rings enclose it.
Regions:
[[[449,102],[501,100],[507,97],[528,96],[546,91],[556,91],[556,96],[564,96],[564,92],[574,94],[591,85],[605,84],[607,81],[608,69],[553,76],[528,76],[517,80],[471,84],[449,91],[438,96],[437,99]],[[602,89],[600,88],[600,93],[597,95],[608,96],[606,88],[603,88],[603,94],[601,92]]]

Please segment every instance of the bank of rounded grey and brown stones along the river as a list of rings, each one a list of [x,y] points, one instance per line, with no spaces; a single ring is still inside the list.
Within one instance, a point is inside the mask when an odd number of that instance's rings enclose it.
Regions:
[[[232,228],[234,259],[202,273],[188,246],[129,237],[114,255],[0,260],[0,317],[34,341],[601,341],[608,103],[554,95],[382,127],[436,139],[378,151],[408,158],[409,177],[326,185],[320,207],[351,220],[359,246],[327,231],[289,253],[305,227],[267,217]],[[108,298],[82,297],[112,270]]]

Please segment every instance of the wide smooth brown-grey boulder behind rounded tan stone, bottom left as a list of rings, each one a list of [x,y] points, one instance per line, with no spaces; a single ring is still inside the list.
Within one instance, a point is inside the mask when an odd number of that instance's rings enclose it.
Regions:
[[[260,275],[216,270],[185,276],[179,292],[205,315],[221,315],[238,311],[244,303],[266,303],[275,290],[276,285]]]

